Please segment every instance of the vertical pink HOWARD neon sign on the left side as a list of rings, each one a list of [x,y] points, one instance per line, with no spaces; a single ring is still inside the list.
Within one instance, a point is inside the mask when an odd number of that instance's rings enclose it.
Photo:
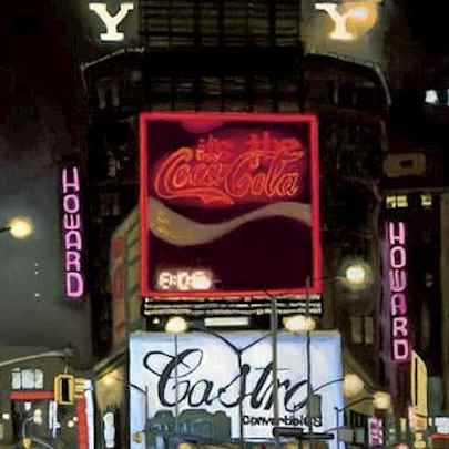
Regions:
[[[84,294],[79,169],[76,166],[64,167],[61,183],[65,295],[71,299],[76,299]]]

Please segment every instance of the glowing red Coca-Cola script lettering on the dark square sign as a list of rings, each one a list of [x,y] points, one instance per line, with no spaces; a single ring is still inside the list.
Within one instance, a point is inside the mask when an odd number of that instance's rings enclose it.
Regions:
[[[193,198],[207,205],[288,200],[300,193],[303,145],[269,132],[249,134],[243,151],[212,134],[196,147],[182,146],[154,175],[161,198]]]

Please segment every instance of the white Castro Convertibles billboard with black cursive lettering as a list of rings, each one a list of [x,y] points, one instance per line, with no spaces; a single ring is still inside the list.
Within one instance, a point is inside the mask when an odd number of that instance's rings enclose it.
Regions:
[[[232,345],[242,349],[241,363]],[[308,429],[306,346],[305,335],[278,335],[279,425],[304,431]],[[312,390],[322,401],[313,431],[335,433],[335,407],[344,406],[339,334],[313,331],[310,360]],[[134,333],[130,337],[130,382],[136,387],[130,390],[131,435],[146,428],[150,441],[143,447],[154,449],[159,441],[170,441],[175,427],[200,440],[236,441],[242,422],[245,441],[273,439],[273,370],[267,334],[224,331],[217,337],[192,331],[175,341],[166,333]],[[147,391],[146,419],[141,391]],[[142,447],[130,440],[131,448]],[[337,449],[336,438],[329,448]]]

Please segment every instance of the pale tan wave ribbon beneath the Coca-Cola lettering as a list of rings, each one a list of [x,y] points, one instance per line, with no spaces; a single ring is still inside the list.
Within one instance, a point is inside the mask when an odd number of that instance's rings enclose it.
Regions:
[[[297,202],[279,202],[259,207],[223,223],[198,223],[172,211],[161,201],[149,200],[150,231],[164,242],[175,246],[193,246],[211,243],[245,223],[271,216],[293,218],[310,226],[310,205]]]

